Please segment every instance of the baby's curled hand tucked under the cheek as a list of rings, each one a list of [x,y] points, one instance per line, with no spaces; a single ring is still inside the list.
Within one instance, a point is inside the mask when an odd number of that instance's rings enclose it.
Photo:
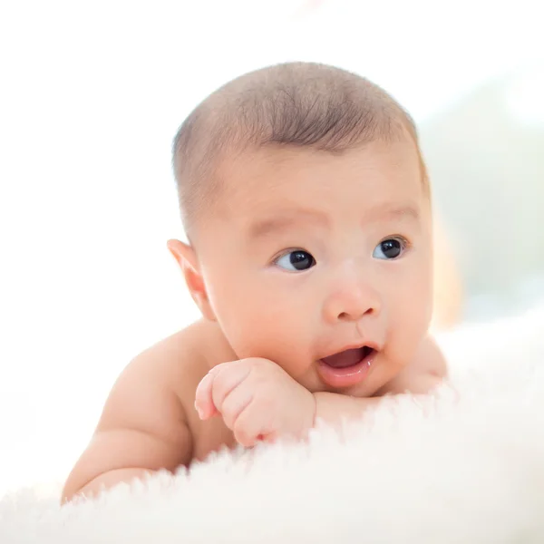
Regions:
[[[197,387],[200,419],[220,414],[238,443],[304,438],[314,424],[316,399],[280,366],[249,358],[215,366]]]

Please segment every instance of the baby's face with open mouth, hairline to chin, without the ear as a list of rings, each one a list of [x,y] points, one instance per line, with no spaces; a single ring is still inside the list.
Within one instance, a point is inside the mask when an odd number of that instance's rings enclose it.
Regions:
[[[432,313],[431,210],[413,144],[262,149],[220,174],[196,249],[238,358],[271,359],[310,391],[375,393],[413,359]]]

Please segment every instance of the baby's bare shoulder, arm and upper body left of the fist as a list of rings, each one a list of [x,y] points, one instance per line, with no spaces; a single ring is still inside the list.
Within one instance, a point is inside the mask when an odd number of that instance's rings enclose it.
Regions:
[[[199,321],[138,355],[112,387],[100,421],[63,489],[92,495],[146,472],[175,471],[235,440],[221,418],[199,420],[200,380],[232,358],[216,324]]]

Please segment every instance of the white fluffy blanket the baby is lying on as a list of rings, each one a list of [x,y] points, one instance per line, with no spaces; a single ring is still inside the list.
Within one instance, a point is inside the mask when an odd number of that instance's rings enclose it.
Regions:
[[[221,453],[58,506],[0,502],[2,544],[544,542],[544,308],[440,338],[452,384],[385,399],[342,435]]]

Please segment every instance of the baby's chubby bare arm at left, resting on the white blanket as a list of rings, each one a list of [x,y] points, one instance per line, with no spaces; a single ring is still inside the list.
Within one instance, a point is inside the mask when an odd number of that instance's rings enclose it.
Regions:
[[[153,349],[121,374],[87,449],[64,484],[63,501],[92,495],[146,473],[187,464],[191,440],[185,411],[172,389],[168,354]]]

